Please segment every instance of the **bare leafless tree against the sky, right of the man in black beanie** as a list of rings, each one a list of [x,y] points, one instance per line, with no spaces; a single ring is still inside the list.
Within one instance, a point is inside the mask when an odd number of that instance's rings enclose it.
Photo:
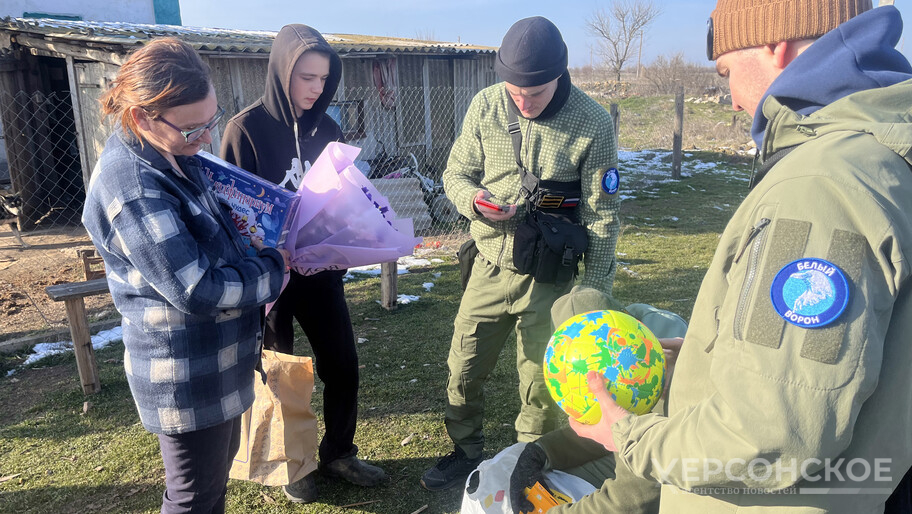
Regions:
[[[621,70],[642,44],[643,32],[662,13],[652,0],[613,0],[607,9],[596,9],[586,21],[586,29],[599,38],[605,63],[618,82]]]

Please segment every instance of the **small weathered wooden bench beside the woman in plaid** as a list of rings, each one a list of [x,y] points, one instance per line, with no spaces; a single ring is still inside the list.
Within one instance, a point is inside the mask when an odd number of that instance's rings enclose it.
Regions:
[[[93,394],[101,391],[98,378],[98,365],[95,363],[95,350],[92,348],[92,334],[89,333],[89,317],[85,310],[85,297],[108,292],[108,281],[104,278],[85,282],[70,282],[48,286],[51,300],[64,302],[67,321],[70,324],[70,336],[73,338],[73,351],[76,353],[76,367],[79,369],[79,380],[82,392]]]

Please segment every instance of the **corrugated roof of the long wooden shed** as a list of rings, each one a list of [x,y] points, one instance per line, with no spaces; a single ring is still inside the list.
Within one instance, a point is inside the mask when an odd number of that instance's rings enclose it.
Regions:
[[[148,25],[100,21],[69,21],[51,18],[2,18],[0,31],[29,34],[61,42],[133,46],[156,37],[174,36],[203,52],[268,53],[276,33],[177,25]],[[340,54],[490,54],[489,46],[422,41],[397,37],[355,34],[323,34]]]

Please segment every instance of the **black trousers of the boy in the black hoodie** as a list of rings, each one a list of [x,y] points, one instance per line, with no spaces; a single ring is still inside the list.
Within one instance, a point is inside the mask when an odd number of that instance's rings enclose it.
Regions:
[[[294,353],[294,320],[310,341],[317,376],[323,381],[326,433],[320,441],[320,460],[329,463],[358,452],[354,445],[358,422],[358,353],[352,331],[344,271],[302,276],[292,272],[266,317],[263,345]]]

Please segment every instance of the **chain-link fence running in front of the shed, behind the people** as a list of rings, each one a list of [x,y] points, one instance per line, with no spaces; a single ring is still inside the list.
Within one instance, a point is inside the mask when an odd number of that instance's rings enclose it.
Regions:
[[[412,218],[416,234],[431,242],[458,240],[467,230],[467,220],[443,192],[441,177],[476,92],[453,87],[346,88],[327,112],[346,140],[362,148],[358,168],[390,199],[398,217]],[[22,228],[78,225],[85,182],[69,94],[0,95],[0,123],[9,161],[0,187],[20,195]],[[110,127],[102,130],[109,133]],[[219,138],[213,139],[213,148],[207,150],[218,153]]]

